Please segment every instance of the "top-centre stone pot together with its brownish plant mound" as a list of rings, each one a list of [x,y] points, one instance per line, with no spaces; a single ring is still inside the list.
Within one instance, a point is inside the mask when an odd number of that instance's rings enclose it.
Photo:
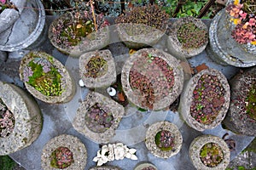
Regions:
[[[116,20],[121,41],[129,48],[153,46],[166,32],[168,14],[157,5],[134,7]]]

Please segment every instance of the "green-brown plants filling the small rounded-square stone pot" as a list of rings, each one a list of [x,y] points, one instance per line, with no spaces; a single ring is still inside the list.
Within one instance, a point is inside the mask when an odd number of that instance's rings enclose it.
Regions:
[[[85,77],[102,77],[108,72],[108,61],[101,56],[94,56],[85,65],[85,69]]]

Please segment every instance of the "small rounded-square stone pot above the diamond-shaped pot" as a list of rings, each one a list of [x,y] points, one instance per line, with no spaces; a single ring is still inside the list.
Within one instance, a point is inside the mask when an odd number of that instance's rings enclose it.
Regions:
[[[91,67],[89,64],[90,59],[95,57],[100,57],[102,61],[104,61],[104,65],[101,65],[100,71],[96,71],[96,75],[92,77],[86,67]],[[97,64],[99,65],[99,63]],[[101,74],[103,69],[106,69],[106,71],[105,73]],[[110,86],[113,82],[116,81],[115,65],[111,52],[106,49],[102,51],[82,54],[79,58],[79,73],[82,81],[84,82],[84,85],[87,88],[101,88]],[[97,74],[101,75],[97,77]]]

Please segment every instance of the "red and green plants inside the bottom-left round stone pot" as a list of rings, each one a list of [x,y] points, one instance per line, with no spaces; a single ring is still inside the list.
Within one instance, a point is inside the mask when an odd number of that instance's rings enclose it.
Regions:
[[[64,169],[69,167],[73,162],[73,153],[67,147],[58,147],[51,153],[50,165],[51,167]]]

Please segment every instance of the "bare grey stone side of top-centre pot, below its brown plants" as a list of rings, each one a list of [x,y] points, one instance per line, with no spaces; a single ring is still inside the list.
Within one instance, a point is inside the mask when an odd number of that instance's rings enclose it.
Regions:
[[[165,32],[151,26],[134,23],[117,24],[119,38],[128,48],[144,48],[157,43]],[[147,33],[144,33],[146,30]]]

